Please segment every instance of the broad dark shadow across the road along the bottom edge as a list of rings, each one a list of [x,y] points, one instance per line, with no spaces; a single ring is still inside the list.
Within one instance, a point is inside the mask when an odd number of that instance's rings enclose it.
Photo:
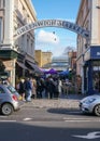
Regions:
[[[57,124],[57,123],[56,123]],[[87,134],[99,127],[57,126],[55,123],[0,123],[0,141],[80,141],[74,134]],[[84,140],[84,139],[83,139]],[[100,140],[100,139],[97,139]]]

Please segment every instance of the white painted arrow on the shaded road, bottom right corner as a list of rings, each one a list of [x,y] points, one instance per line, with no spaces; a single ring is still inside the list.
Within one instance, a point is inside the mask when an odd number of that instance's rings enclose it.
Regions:
[[[100,138],[98,133],[100,133],[100,131],[89,132],[86,136],[73,136],[73,137],[83,138],[83,139],[97,139]]]

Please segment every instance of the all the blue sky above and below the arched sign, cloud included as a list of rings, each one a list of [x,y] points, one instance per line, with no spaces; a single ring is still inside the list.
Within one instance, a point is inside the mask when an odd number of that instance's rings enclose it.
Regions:
[[[32,3],[38,20],[65,20],[75,23],[81,0],[32,0]],[[59,56],[68,46],[75,49],[76,34],[56,27],[35,29],[35,49],[52,51],[54,56]]]

